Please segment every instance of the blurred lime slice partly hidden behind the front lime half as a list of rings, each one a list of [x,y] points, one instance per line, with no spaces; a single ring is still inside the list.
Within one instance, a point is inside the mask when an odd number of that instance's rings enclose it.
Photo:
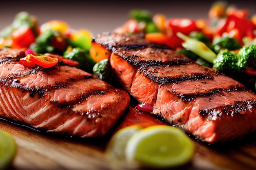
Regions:
[[[126,159],[125,148],[128,140],[139,130],[140,126],[133,125],[118,130],[108,142],[106,153],[114,159]]]

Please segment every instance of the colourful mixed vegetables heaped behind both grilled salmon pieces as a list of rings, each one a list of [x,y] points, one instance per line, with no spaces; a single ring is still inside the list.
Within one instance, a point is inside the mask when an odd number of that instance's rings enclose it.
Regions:
[[[133,9],[128,15],[130,20],[113,33],[144,33],[146,39],[166,44],[256,89],[256,14],[217,1],[206,19],[166,18],[143,9]],[[31,49],[41,59],[49,53],[63,56],[79,63],[71,65],[108,81],[110,51],[92,42],[92,37],[88,30],[74,30],[59,20],[39,26],[35,16],[20,12],[0,31],[0,48]]]

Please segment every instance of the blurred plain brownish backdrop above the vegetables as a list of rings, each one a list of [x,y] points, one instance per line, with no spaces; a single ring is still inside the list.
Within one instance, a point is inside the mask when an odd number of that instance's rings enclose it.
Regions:
[[[17,0],[1,2],[0,29],[11,24],[15,15],[27,11],[38,18],[39,24],[50,20],[63,20],[73,29],[88,29],[93,35],[121,26],[126,22],[131,9],[148,9],[162,13],[166,18],[207,18],[215,0]],[[256,2],[252,0],[227,0],[239,9],[256,13]]]

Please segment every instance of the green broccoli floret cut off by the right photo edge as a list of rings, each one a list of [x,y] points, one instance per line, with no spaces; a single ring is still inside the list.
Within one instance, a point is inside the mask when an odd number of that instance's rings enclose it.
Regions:
[[[238,52],[238,67],[246,69],[248,67],[256,68],[256,45],[248,45]]]

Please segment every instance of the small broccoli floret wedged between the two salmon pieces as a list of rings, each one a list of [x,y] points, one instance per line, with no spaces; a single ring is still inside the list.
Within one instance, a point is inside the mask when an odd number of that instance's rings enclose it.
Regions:
[[[96,63],[92,68],[94,75],[99,77],[99,79],[102,79],[105,81],[109,77],[109,70],[110,70],[110,67],[109,67],[108,59],[101,60],[100,62]]]

